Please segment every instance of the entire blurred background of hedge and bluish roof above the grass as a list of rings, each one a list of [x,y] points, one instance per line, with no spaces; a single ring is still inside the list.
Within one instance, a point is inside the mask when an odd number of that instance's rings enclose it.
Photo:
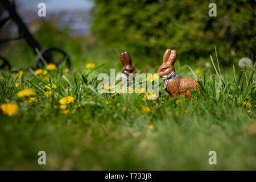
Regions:
[[[188,0],[16,0],[16,10],[43,48],[60,47],[75,66],[86,61],[119,65],[119,53],[128,51],[142,71],[161,64],[166,48],[176,49],[180,64],[204,67],[214,55],[222,67],[241,57],[255,61],[255,1]],[[38,4],[46,3],[46,17]],[[217,16],[210,17],[209,3]],[[1,7],[1,19],[7,15]],[[18,34],[15,23],[0,31],[6,38]],[[26,53],[26,59],[20,57]],[[0,55],[16,66],[30,64],[35,55],[24,40],[0,44]],[[146,64],[145,64],[146,63]],[[117,66],[116,66],[117,65]]]

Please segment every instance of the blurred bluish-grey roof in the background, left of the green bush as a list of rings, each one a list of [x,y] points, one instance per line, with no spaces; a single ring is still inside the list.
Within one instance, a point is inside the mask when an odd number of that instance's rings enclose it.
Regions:
[[[46,4],[46,17],[38,16],[39,3]],[[68,28],[70,36],[89,35],[89,11],[93,7],[92,1],[74,0],[16,0],[16,7],[23,22],[30,26],[30,31],[35,32],[40,22],[51,22],[59,30]],[[2,16],[7,16],[7,12]],[[14,22],[8,22],[9,34],[18,33]]]

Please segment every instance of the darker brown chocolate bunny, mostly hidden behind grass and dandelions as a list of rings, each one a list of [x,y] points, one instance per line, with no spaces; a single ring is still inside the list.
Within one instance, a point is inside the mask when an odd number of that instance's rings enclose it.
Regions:
[[[120,60],[123,65],[121,78],[132,81],[133,78],[136,76],[136,74],[135,74],[136,71],[135,71],[133,65],[131,65],[131,57],[130,57],[129,53],[122,52],[120,54]],[[129,82],[128,86],[130,86],[131,84],[132,84],[132,82]]]

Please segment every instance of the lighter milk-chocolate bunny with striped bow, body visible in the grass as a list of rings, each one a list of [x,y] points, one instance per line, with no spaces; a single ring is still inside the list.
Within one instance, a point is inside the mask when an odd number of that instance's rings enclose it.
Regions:
[[[193,78],[181,78],[181,75],[176,75],[174,69],[176,57],[177,52],[175,50],[166,49],[163,56],[163,64],[158,69],[158,76],[163,78],[163,89],[166,89],[172,97],[184,94],[185,98],[190,98],[189,89],[199,90],[199,84]]]

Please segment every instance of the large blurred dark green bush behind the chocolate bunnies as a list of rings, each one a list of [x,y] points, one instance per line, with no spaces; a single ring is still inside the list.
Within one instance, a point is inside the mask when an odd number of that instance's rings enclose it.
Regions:
[[[211,2],[217,5],[217,17],[208,15]],[[255,57],[255,1],[94,0],[94,4],[92,32],[108,47],[122,47],[152,60],[172,48],[178,59],[196,61],[209,59],[216,44],[222,65]]]

